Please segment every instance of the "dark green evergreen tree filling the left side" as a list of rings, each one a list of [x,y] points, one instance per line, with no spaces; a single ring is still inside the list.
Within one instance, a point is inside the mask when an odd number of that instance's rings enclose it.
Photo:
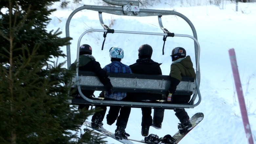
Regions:
[[[76,133],[93,113],[69,105],[74,72],[51,61],[71,40],[46,31],[56,1],[0,1],[0,143],[81,143]],[[104,143],[96,136],[84,141]]]

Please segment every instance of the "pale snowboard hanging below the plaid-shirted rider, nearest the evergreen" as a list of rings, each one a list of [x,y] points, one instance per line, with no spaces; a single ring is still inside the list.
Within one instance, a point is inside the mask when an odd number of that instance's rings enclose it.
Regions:
[[[111,137],[111,138],[113,138],[113,139],[115,139],[115,140],[117,140],[117,141],[119,141],[119,142],[121,142],[121,143],[123,143],[123,144],[133,144],[133,142],[131,142],[130,140],[127,140],[127,139],[122,139],[122,140],[116,139],[114,133],[109,132],[108,130],[104,129],[103,127],[99,128],[99,129],[94,129],[94,128],[92,128],[91,122],[85,121],[85,122],[83,123],[83,125],[85,125],[85,126],[91,128],[92,130],[96,131],[97,133],[99,133],[99,135]],[[84,129],[84,131],[87,131],[87,130],[88,130],[88,129]]]

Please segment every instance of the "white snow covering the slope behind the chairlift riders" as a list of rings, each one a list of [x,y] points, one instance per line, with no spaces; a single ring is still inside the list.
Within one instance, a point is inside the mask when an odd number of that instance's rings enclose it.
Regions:
[[[228,50],[235,49],[238,70],[242,83],[245,105],[247,108],[250,129],[254,142],[256,142],[256,3],[240,3],[238,11],[236,4],[232,1],[221,1],[220,6],[210,5],[208,1],[194,0],[180,3],[162,0],[158,5],[147,6],[147,9],[176,10],[185,15],[195,26],[200,51],[201,83],[200,92],[202,101],[199,106],[193,109],[186,109],[189,116],[194,113],[204,113],[203,121],[185,136],[179,144],[212,144],[212,143],[248,143],[241,117],[239,102],[237,98],[235,83],[233,80]],[[59,8],[56,3],[52,8],[52,21],[47,29],[57,30],[60,28],[65,37],[66,20],[70,13],[76,8],[87,5],[97,5],[94,1],[83,0],[80,5],[71,3],[68,8]],[[99,4],[101,5],[101,4]],[[162,32],[157,17],[125,17],[111,14],[102,14],[104,23],[114,30],[120,31],[143,31]],[[188,24],[176,16],[163,16],[163,26],[175,34],[192,35]],[[76,59],[77,41],[79,36],[88,29],[103,29],[98,21],[96,11],[82,10],[77,12],[70,23],[71,40],[71,62]],[[168,75],[171,65],[171,51],[175,47],[183,47],[190,55],[195,67],[194,42],[184,37],[168,37],[165,43],[165,54],[162,55],[162,36],[136,35],[136,34],[107,34],[104,49],[101,51],[103,32],[90,32],[86,34],[80,44],[89,44],[93,48],[93,56],[100,62],[101,67],[109,64],[109,48],[119,46],[124,49],[122,62],[130,65],[138,58],[138,48],[142,44],[149,44],[153,47],[152,59],[162,63],[163,75]],[[66,47],[62,47],[66,53]],[[59,58],[58,61],[65,61],[66,58]],[[66,65],[67,67],[67,65]],[[97,95],[99,92],[96,92]],[[152,110],[153,111],[153,110]],[[107,111],[108,112],[108,111]],[[157,134],[160,137],[166,134],[175,134],[178,131],[178,118],[173,110],[165,110],[162,129],[157,130],[150,127],[149,134]],[[152,112],[153,116],[153,112]],[[91,120],[91,117],[87,119]],[[107,125],[106,119],[103,127],[114,132],[115,124]],[[141,140],[141,110],[132,108],[126,132],[129,138]],[[246,126],[248,128],[248,125]],[[83,129],[84,127],[82,127]],[[119,143],[107,138],[108,143]],[[136,142],[134,142],[136,144]]]

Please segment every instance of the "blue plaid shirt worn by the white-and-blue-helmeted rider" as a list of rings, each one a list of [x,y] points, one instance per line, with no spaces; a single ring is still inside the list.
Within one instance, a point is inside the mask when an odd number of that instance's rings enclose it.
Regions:
[[[112,63],[106,65],[103,70],[109,73],[132,73],[132,70],[129,66],[119,62],[119,61],[113,61]],[[126,97],[125,92],[114,92],[113,94],[108,94],[108,92],[105,92],[106,98],[111,98],[115,100],[121,100]]]

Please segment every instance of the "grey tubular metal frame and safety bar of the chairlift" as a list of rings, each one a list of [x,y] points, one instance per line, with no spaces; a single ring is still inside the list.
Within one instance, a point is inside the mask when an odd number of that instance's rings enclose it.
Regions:
[[[97,29],[91,29],[85,31],[78,40],[77,43],[77,59],[76,62],[78,63],[79,61],[79,47],[80,47],[80,41],[81,38],[84,34],[90,31],[97,31],[97,32],[109,32],[111,30],[107,25],[104,24],[103,19],[102,19],[102,12],[105,13],[110,13],[110,14],[115,14],[115,15],[124,15],[124,16],[158,16],[158,21],[159,21],[159,26],[160,29],[164,33],[155,33],[155,32],[139,32],[139,31],[117,31],[113,30],[112,33],[131,33],[131,34],[149,34],[149,35],[162,35],[162,36],[180,36],[180,37],[188,37],[194,40],[194,47],[195,47],[195,57],[196,57],[196,78],[195,78],[195,85],[196,85],[196,91],[193,94],[192,99],[190,100],[189,104],[165,104],[165,103],[144,103],[144,102],[127,102],[127,101],[107,101],[107,100],[92,100],[87,98],[85,95],[82,94],[81,92],[81,84],[80,84],[80,79],[82,79],[81,76],[78,76],[78,67],[76,67],[76,76],[75,80],[77,82],[76,86],[78,87],[79,93],[82,95],[84,101],[87,103],[91,103],[92,105],[94,104],[102,104],[102,105],[122,105],[122,106],[132,106],[132,107],[159,107],[159,108],[165,108],[165,109],[173,109],[173,108],[194,108],[195,106],[199,105],[201,102],[201,94],[199,91],[199,85],[200,85],[200,66],[199,66],[199,55],[200,55],[200,46],[197,41],[197,33],[196,30],[191,23],[191,21],[185,17],[183,14],[173,11],[173,10],[151,10],[151,9],[138,9],[138,10],[131,10],[127,11],[124,10],[123,6],[124,5],[133,5],[133,6],[139,6],[139,3],[134,3],[134,1],[125,1],[125,0],[103,0],[104,2],[107,2],[109,4],[113,5],[118,5],[122,7],[113,7],[113,6],[94,6],[94,5],[84,5],[82,7],[79,7],[75,9],[68,17],[67,22],[66,22],[66,37],[70,36],[69,33],[69,26],[70,26],[70,21],[72,17],[75,15],[76,12],[80,10],[94,10],[98,11],[99,13],[99,21],[101,26],[104,28],[104,30],[97,30]],[[163,15],[177,15],[181,17],[183,20],[187,22],[187,24],[190,26],[193,36],[190,35],[184,35],[184,34],[174,34],[169,32],[166,28],[163,27],[161,17]],[[68,68],[71,66],[71,53],[70,53],[70,45],[67,45],[67,65]],[[194,101],[198,95],[198,102],[194,104]],[[72,101],[75,102],[76,104],[79,103],[84,103],[83,101]]]

